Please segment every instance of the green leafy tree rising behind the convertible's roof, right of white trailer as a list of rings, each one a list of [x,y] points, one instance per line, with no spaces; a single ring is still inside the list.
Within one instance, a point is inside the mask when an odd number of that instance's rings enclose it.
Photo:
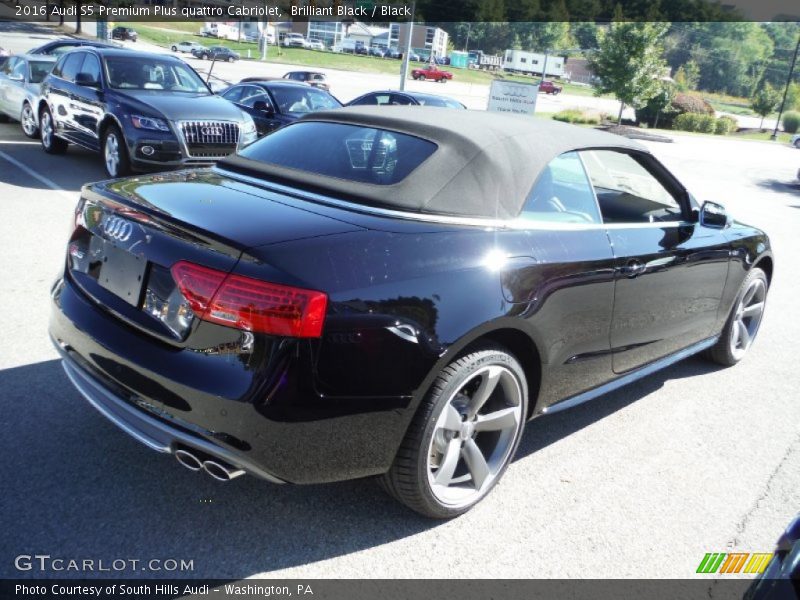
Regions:
[[[639,108],[658,93],[667,66],[661,46],[667,28],[666,23],[614,22],[601,32],[589,65],[600,80],[595,94],[611,93],[620,101],[618,123],[625,105]]]

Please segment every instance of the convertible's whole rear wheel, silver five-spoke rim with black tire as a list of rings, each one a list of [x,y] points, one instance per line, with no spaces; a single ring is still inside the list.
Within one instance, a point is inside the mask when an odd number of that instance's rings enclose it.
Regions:
[[[451,518],[480,502],[519,445],[528,388],[519,362],[491,347],[445,367],[419,407],[384,488],[432,518]]]

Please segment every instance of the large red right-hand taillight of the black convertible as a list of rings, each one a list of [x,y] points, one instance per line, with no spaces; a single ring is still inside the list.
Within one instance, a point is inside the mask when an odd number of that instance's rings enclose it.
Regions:
[[[190,262],[172,277],[195,314],[237,329],[290,337],[320,337],[328,296],[322,292],[227,275]]]

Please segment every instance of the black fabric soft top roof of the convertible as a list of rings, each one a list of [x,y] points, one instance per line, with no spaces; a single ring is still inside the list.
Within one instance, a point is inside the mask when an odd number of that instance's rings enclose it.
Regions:
[[[311,113],[288,127],[309,121],[396,131],[429,140],[438,149],[393,185],[346,181],[236,155],[218,165],[373,206],[505,219],[519,214],[539,174],[559,154],[584,148],[647,152],[632,140],[595,129],[485,111],[353,106]]]

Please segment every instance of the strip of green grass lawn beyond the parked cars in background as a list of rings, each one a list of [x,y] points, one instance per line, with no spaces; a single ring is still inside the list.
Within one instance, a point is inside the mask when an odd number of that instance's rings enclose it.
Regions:
[[[199,26],[196,23],[166,23],[163,27],[142,25],[141,23],[120,23],[134,27],[142,40],[153,44],[169,48],[172,44],[182,40],[193,40],[205,46],[227,46],[231,50],[238,52],[242,58],[247,58],[247,51],[250,50],[253,59],[260,55],[258,45],[251,42],[233,42],[229,40],[219,40],[216,38],[206,38],[198,34]],[[170,29],[186,30],[186,33],[170,31]],[[376,56],[361,56],[357,54],[344,54],[339,52],[325,52],[317,50],[306,50],[304,48],[283,48],[270,46],[267,49],[267,62],[298,65],[304,67],[318,67],[327,69],[341,69],[343,71],[358,71],[361,73],[381,73],[384,75],[400,75],[401,61],[391,58],[378,58]],[[411,63],[410,68],[422,66],[423,63]],[[474,83],[489,85],[493,79],[503,79],[505,81],[519,81],[524,83],[535,83],[538,77],[525,75],[509,75],[499,72],[497,74],[489,71],[478,71],[476,69],[455,69],[444,67],[453,73],[453,80],[462,83]],[[447,84],[442,87],[446,88]],[[576,96],[591,96],[593,89],[588,86],[575,85],[572,83],[559,83],[563,85],[565,94]],[[611,96],[604,96],[611,97]]]

